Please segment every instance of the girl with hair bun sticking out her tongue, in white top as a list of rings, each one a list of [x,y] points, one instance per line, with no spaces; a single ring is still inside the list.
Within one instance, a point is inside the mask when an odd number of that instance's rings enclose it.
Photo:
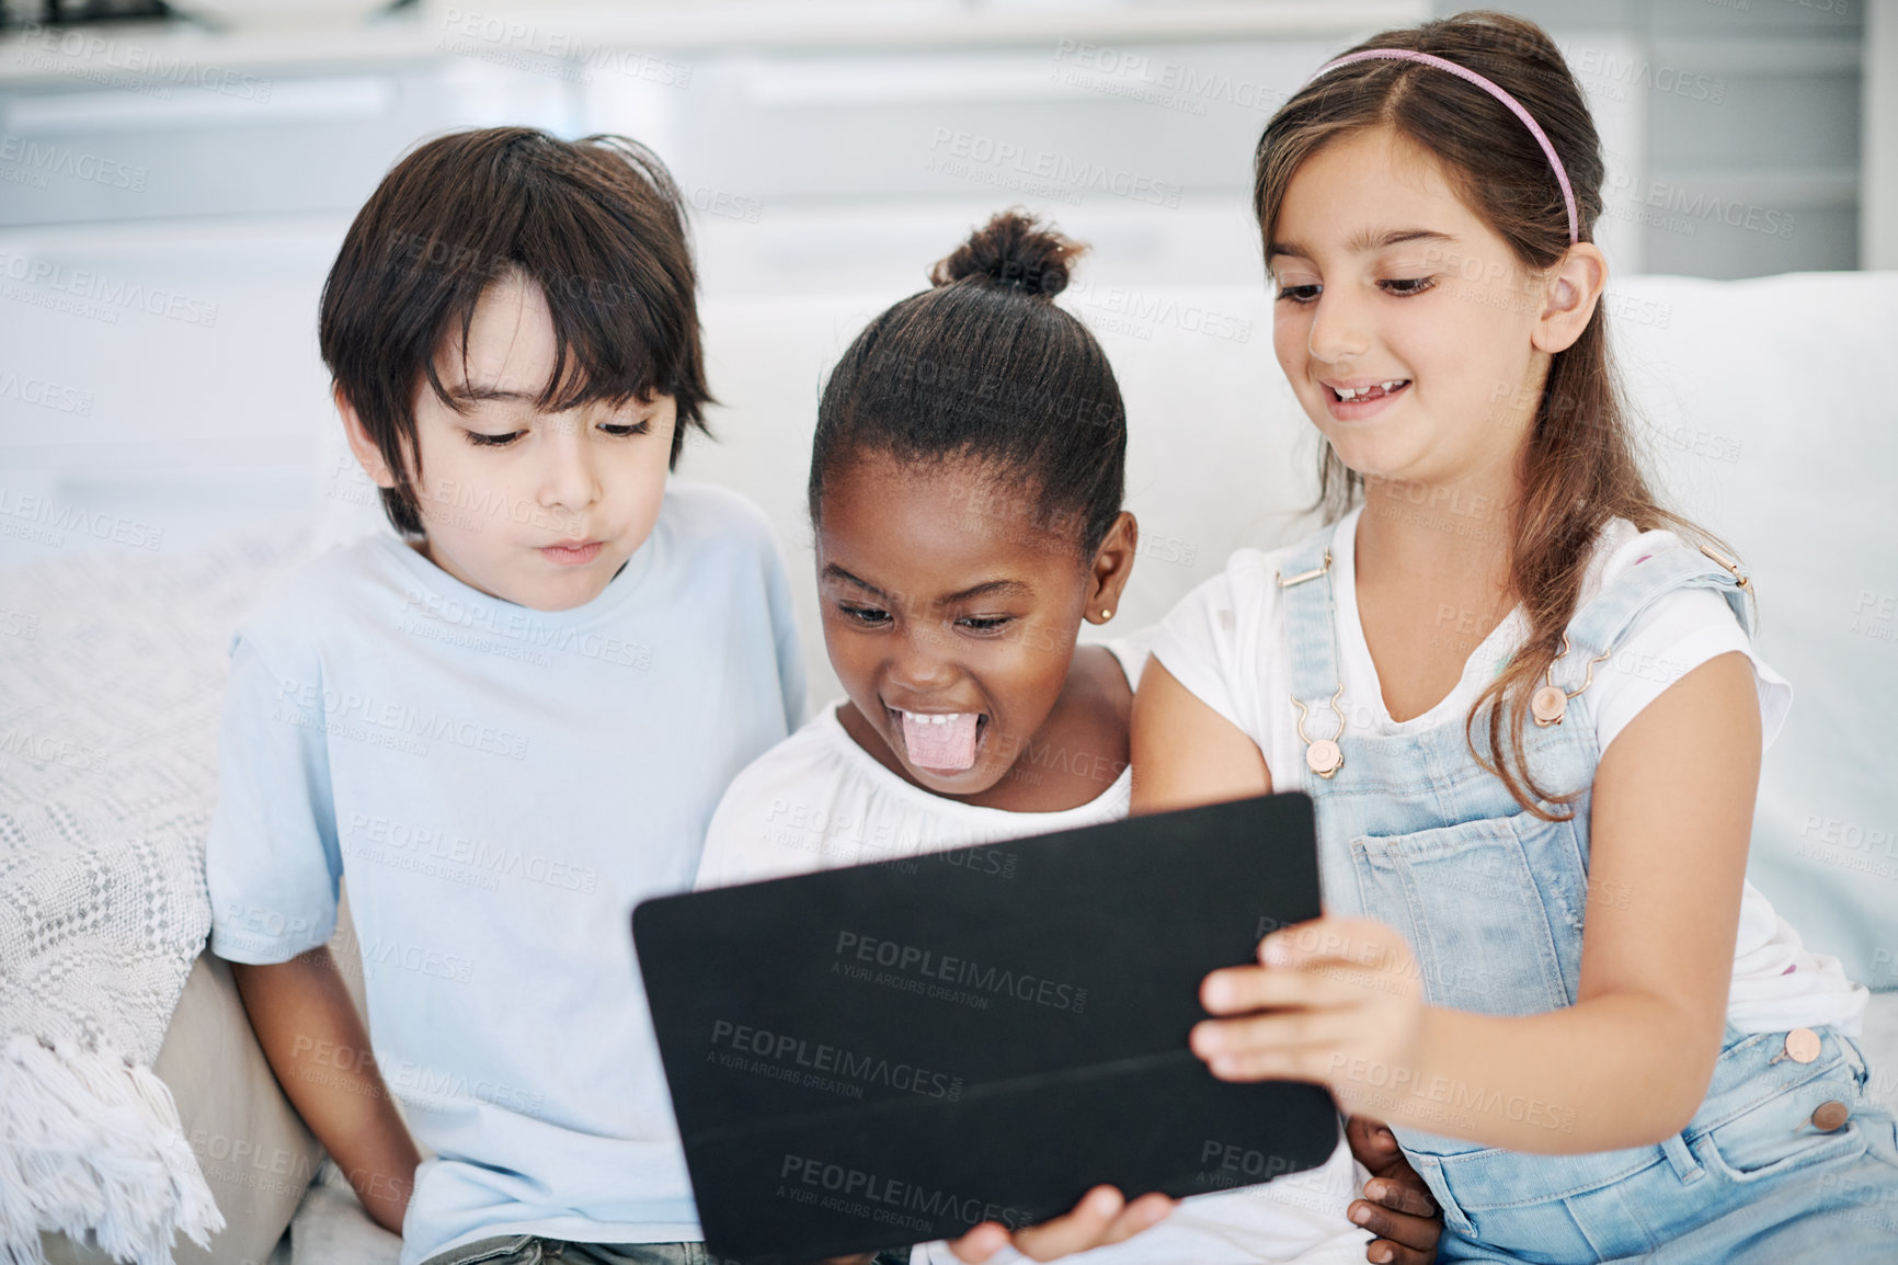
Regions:
[[[996,215],[831,372],[809,509],[824,646],[847,697],[733,781],[700,887],[1126,817],[1148,634],[1076,644],[1114,617],[1139,539],[1120,507],[1114,370],[1053,304],[1080,251]],[[1340,1143],[1323,1168],[1177,1206],[1095,1187],[1053,1221],[1014,1235],[989,1221],[913,1259],[1010,1246],[1036,1259],[1091,1248],[1103,1265],[1431,1259],[1439,1223],[1416,1174],[1380,1162],[1353,1204],[1365,1176]]]

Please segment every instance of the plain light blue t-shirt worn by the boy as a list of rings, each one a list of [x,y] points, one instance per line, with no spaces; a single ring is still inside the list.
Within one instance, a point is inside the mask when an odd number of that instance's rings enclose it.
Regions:
[[[535,612],[395,539],[323,555],[232,642],[211,948],[326,944],[349,879],[376,1066],[416,1140],[402,1265],[535,1233],[697,1240],[632,906],[803,718],[763,515],[674,482],[605,591]],[[351,1050],[304,1050],[338,1071]]]

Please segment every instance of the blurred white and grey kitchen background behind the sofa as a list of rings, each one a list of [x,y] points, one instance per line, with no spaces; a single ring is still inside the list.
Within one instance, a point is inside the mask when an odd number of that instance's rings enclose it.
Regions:
[[[867,315],[1023,203],[1095,247],[1069,306],[1139,336],[1143,287],[1258,283],[1249,163],[1275,104],[1365,34],[1458,8],[222,0],[78,21],[148,2],[8,0],[0,522],[38,498],[129,526],[9,530],[0,566],[186,551],[334,496],[311,475],[334,425],[315,300],[347,218],[423,137],[651,142],[689,190],[708,302],[860,293]],[[1892,150],[1889,4],[1883,27],[1862,0],[1515,11],[1594,99],[1617,272],[1892,266],[1890,161],[1862,161],[1881,135]],[[1270,361],[1262,338],[1247,353]]]

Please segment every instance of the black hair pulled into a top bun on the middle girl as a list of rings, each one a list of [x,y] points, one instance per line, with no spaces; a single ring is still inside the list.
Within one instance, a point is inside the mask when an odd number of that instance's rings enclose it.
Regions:
[[[856,336],[818,405],[812,524],[826,479],[865,450],[974,460],[1093,557],[1126,494],[1127,410],[1101,344],[1053,304],[1084,249],[1004,211]]]

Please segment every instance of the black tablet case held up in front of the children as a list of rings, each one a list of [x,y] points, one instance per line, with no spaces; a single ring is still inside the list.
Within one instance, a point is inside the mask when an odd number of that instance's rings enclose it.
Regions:
[[[1186,1047],[1205,974],[1317,914],[1304,794],[645,900],[706,1248],[809,1261],[1325,1162],[1325,1088]]]

